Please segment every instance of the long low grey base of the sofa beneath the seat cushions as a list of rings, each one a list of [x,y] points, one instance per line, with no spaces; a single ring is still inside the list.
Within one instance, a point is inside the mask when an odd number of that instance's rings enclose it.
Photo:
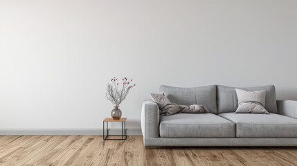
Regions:
[[[145,138],[150,147],[297,147],[297,138]]]

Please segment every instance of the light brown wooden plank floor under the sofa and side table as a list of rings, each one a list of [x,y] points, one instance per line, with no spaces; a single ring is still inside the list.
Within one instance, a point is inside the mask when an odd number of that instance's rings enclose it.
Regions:
[[[142,136],[0,136],[0,165],[297,165],[296,147],[144,149]]]

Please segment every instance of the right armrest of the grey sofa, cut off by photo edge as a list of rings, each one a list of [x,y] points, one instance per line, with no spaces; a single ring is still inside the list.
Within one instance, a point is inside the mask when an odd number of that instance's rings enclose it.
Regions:
[[[278,104],[278,114],[297,119],[297,101],[276,100]]]

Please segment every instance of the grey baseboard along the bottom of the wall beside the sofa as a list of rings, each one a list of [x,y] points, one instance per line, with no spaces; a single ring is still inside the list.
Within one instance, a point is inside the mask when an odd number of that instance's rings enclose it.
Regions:
[[[128,136],[142,135],[141,129],[126,129],[126,131]],[[109,129],[109,134],[111,135],[121,134],[121,129]],[[0,129],[0,135],[99,135],[101,136],[103,135],[103,129]]]

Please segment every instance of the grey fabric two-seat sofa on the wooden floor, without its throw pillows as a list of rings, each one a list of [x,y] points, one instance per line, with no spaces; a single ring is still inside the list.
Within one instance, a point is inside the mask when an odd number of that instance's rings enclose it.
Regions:
[[[163,146],[297,146],[297,101],[276,100],[273,85],[239,88],[266,90],[270,114],[235,113],[235,87],[195,88],[160,86],[170,102],[202,104],[210,113],[160,115],[152,100],[143,102],[141,128],[145,147]]]

